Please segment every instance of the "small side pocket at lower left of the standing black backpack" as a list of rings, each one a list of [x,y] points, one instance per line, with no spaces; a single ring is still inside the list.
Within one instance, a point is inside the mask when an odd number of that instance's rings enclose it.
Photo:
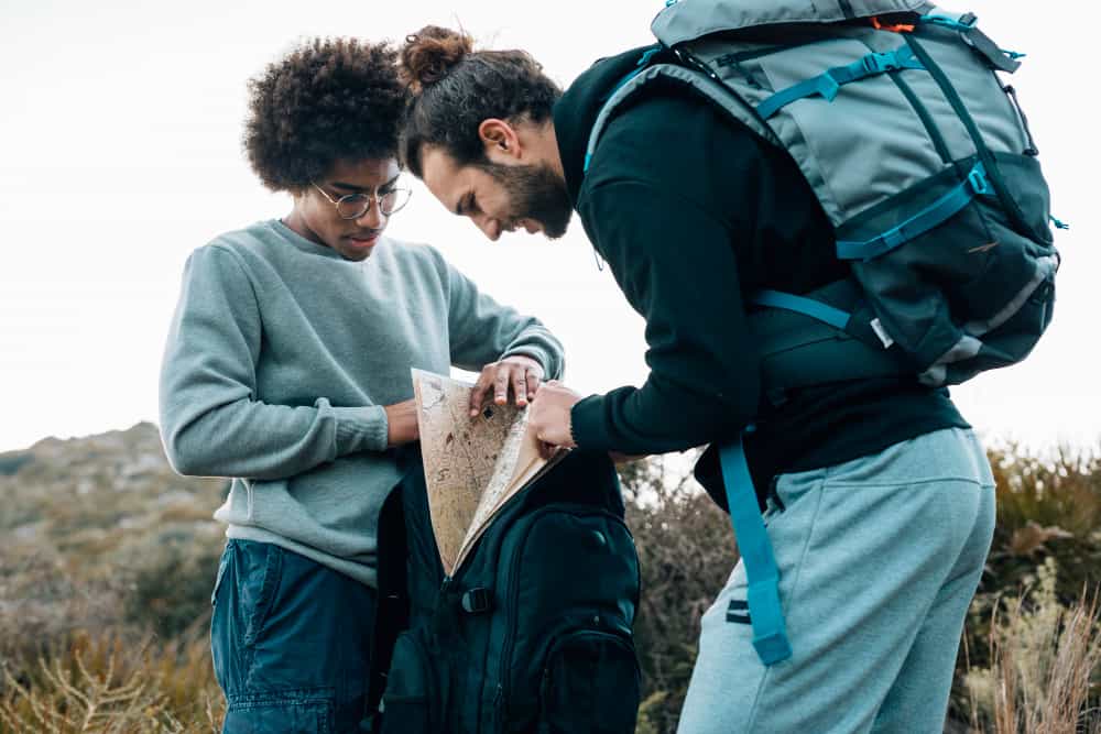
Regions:
[[[443,708],[432,659],[416,631],[403,632],[394,643],[393,660],[382,695],[383,734],[433,734],[440,731],[436,711]]]

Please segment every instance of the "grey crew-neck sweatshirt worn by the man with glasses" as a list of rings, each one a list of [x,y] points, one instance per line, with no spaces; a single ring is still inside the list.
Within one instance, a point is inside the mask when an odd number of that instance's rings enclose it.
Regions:
[[[447,374],[562,346],[480,294],[430,247],[382,238],[344,260],[277,220],[187,261],[161,366],[161,434],[182,474],[233,478],[215,518],[375,583],[377,525],[400,473],[384,405],[410,368]]]

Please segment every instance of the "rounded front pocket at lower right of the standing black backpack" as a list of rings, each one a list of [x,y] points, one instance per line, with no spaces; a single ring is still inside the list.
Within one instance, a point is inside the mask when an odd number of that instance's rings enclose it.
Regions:
[[[631,734],[639,713],[639,664],[625,636],[584,631],[547,654],[539,734]]]

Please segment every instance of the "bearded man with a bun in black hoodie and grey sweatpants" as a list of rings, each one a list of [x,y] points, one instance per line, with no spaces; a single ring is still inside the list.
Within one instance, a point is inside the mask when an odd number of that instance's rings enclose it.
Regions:
[[[907,375],[764,399],[745,294],[803,294],[847,269],[787,154],[680,88],[648,85],[586,161],[644,51],[563,92],[525,52],[425,28],[401,52],[403,157],[491,240],[560,237],[576,211],[646,320],[645,383],[588,397],[548,384],[530,407],[539,439],[624,454],[711,443],[696,474],[722,495],[715,446],[756,425],[745,451],[793,655],[759,659],[739,563],[704,615],[680,731],[940,731],[993,532],[982,447],[947,391]]]

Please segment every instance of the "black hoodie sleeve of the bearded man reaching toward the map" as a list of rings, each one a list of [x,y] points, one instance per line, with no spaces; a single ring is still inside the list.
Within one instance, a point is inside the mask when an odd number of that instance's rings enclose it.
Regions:
[[[650,375],[578,403],[574,439],[593,450],[661,453],[729,436],[760,392],[728,226],[651,183],[613,179],[579,201],[590,239],[646,319]]]

